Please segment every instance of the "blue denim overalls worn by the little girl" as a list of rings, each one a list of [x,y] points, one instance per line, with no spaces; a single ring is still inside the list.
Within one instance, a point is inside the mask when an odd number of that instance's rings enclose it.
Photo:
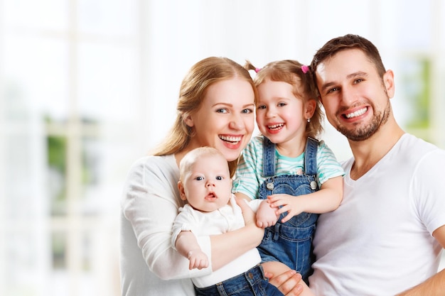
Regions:
[[[271,194],[301,195],[316,192],[318,141],[308,138],[304,151],[303,175],[275,175],[275,144],[264,137],[263,141],[263,174],[268,177],[259,187],[259,198],[267,199]],[[277,224],[264,230],[264,237],[258,246],[263,262],[280,261],[289,268],[301,273],[308,283],[313,272],[312,240],[316,228],[318,214],[303,212],[292,217],[286,223],[281,220],[286,213],[281,214]]]

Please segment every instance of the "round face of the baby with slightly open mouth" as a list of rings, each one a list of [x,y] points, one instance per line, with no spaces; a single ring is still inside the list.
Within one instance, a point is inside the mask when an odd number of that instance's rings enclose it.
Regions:
[[[232,179],[227,160],[222,156],[203,155],[191,166],[183,180],[188,204],[202,212],[225,206],[230,199]]]

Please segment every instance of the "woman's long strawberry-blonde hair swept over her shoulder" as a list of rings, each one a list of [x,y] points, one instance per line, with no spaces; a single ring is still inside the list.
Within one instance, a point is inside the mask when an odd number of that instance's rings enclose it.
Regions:
[[[250,73],[237,62],[227,57],[207,57],[195,63],[181,83],[176,121],[163,142],[154,149],[154,155],[170,155],[181,152],[188,146],[194,136],[193,128],[184,119],[200,109],[205,92],[210,85],[223,80],[240,78],[249,82],[254,91],[255,101],[257,89],[254,87]],[[230,175],[235,173],[238,160],[229,162]]]

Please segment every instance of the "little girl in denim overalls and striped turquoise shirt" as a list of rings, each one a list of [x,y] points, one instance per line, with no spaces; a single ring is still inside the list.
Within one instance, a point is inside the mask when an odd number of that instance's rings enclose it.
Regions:
[[[316,140],[322,112],[309,67],[295,60],[262,69],[247,62],[246,67],[257,72],[262,136],[243,151],[232,192],[237,198],[266,199],[257,212],[258,226],[267,227],[258,247],[264,268],[274,270],[272,261],[280,261],[307,283],[318,214],[339,206],[344,172],[331,149]]]

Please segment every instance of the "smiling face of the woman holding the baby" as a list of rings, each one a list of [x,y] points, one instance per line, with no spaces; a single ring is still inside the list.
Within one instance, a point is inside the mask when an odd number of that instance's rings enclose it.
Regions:
[[[195,135],[189,148],[209,146],[228,161],[237,159],[254,129],[252,85],[239,78],[210,85],[200,109],[185,119]]]

